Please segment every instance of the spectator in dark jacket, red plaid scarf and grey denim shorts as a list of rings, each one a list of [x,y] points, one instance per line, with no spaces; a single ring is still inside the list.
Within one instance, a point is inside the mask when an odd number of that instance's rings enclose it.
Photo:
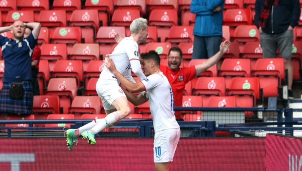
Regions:
[[[288,71],[288,98],[293,98],[292,29],[300,17],[299,0],[257,0],[255,11],[254,24],[259,28],[263,58],[276,58],[279,49]]]

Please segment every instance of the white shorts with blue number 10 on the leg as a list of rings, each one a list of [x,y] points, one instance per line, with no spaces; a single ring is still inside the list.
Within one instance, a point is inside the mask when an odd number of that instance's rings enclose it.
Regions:
[[[180,138],[180,128],[158,131],[154,136],[154,162],[173,161],[174,153]]]

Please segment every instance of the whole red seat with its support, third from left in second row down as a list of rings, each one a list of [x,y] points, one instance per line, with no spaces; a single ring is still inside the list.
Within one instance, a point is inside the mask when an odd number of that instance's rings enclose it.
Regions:
[[[70,17],[69,26],[81,27],[82,38],[85,43],[93,43],[99,29],[97,10],[74,10]]]

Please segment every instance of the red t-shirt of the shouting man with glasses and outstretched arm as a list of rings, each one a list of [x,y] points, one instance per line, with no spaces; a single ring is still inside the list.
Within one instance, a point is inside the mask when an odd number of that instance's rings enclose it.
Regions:
[[[182,96],[184,93],[185,85],[195,78],[196,70],[195,66],[180,68],[177,71],[172,71],[168,66],[160,65],[161,71],[168,78],[172,87],[174,96],[174,105],[181,106]],[[176,118],[179,118],[178,116]]]

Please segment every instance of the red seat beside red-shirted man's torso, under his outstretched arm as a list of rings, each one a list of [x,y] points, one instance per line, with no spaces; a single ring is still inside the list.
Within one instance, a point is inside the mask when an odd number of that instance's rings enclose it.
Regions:
[[[192,82],[191,82],[192,83]],[[225,84],[223,77],[199,77],[195,87],[192,89],[193,95],[202,96],[202,104],[205,106],[211,95],[224,96]]]

